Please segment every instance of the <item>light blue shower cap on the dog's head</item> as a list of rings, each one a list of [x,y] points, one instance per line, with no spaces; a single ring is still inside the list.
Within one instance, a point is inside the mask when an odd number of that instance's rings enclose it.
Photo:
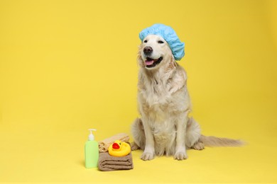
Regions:
[[[146,38],[147,35],[159,35],[163,39],[165,39],[165,41],[168,42],[168,45],[170,46],[175,60],[180,60],[182,59],[182,57],[184,57],[185,43],[179,40],[173,28],[157,23],[152,25],[151,27],[141,30],[141,33],[139,33],[139,38],[141,39],[141,41],[143,41],[143,39]]]

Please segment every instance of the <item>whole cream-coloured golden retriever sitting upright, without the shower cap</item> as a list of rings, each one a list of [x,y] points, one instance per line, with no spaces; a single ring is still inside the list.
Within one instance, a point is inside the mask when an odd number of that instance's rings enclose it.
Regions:
[[[138,109],[134,121],[132,150],[143,149],[141,159],[173,155],[188,159],[186,149],[204,146],[239,146],[239,140],[205,137],[200,125],[189,117],[187,75],[175,62],[170,45],[160,35],[147,35],[139,46]]]

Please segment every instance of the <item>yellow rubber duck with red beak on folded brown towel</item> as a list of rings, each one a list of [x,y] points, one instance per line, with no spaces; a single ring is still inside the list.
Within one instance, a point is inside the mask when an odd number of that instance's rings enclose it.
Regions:
[[[116,140],[109,146],[109,154],[112,156],[126,156],[131,152],[131,147],[126,142]]]

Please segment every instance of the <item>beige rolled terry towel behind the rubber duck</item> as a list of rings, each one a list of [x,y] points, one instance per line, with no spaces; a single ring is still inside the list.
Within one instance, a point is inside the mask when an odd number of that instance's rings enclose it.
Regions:
[[[104,153],[104,152],[108,151],[109,145],[113,144],[116,140],[120,140],[121,142],[129,142],[129,139],[130,139],[130,137],[126,133],[116,134],[112,137],[104,139],[104,140],[98,142],[99,152]]]

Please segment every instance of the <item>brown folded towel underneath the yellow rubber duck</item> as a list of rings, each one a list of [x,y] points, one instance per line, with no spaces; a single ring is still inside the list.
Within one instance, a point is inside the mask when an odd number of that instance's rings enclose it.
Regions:
[[[98,168],[100,171],[129,170],[134,168],[131,153],[126,156],[110,156],[109,153],[99,153]]]

